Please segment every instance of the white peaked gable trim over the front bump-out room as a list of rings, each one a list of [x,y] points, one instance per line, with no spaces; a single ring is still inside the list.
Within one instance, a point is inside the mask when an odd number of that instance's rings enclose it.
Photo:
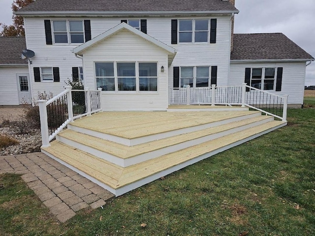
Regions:
[[[175,54],[176,53],[176,50],[174,48],[162,43],[161,41],[158,41],[157,39],[149,36],[146,33],[141,32],[139,29],[135,29],[132,26],[129,26],[125,22],[115,26],[112,29],[109,29],[109,30],[97,35],[95,38],[91,39],[90,41],[83,43],[80,46],[74,48],[73,53],[80,55],[80,53],[83,52],[84,50],[87,50],[88,48],[92,47],[93,45],[97,44],[98,42],[105,40],[106,38],[118,33],[119,31],[121,31],[123,29],[127,29],[127,30],[131,31],[132,33],[142,37],[143,39],[153,43],[154,45],[157,45],[158,47],[167,51],[168,54]]]

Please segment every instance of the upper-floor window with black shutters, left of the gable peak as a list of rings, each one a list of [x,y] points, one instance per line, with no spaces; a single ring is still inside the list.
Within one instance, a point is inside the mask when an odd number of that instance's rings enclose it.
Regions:
[[[84,43],[84,24],[80,20],[52,21],[54,43]]]

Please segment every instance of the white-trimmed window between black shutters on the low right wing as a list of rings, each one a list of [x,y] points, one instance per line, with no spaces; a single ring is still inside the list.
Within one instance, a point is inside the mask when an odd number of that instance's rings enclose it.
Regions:
[[[276,68],[252,68],[251,86],[262,90],[275,90]]]

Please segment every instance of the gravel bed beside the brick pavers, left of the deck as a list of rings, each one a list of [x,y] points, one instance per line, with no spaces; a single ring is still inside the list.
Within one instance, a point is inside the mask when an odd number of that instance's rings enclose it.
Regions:
[[[20,143],[0,149],[0,155],[14,155],[40,151],[40,129],[30,129],[28,134],[16,134],[12,126],[0,127],[0,134],[14,138]]]

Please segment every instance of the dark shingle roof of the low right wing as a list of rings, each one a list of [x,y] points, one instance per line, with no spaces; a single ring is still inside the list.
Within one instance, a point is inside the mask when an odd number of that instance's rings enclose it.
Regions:
[[[241,33],[233,36],[231,60],[314,59],[283,33]]]

